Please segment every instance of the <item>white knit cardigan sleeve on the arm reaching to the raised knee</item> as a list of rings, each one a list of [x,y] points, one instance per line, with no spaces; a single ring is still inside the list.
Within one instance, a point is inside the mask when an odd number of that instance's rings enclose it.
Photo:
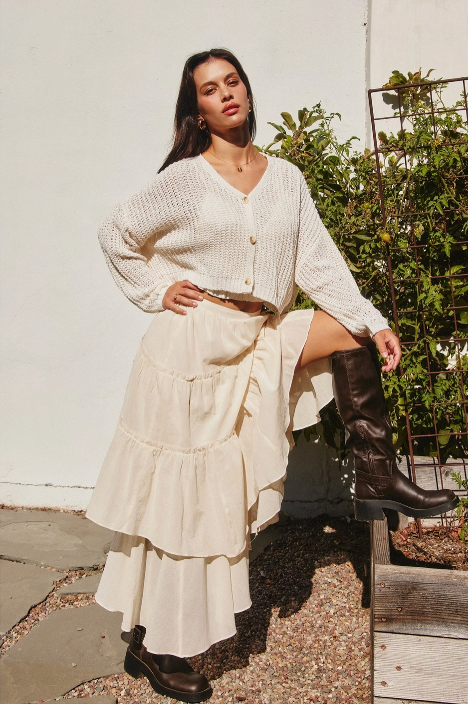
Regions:
[[[295,278],[312,301],[351,333],[373,336],[388,327],[383,315],[360,294],[346,261],[320,220],[302,176]]]

